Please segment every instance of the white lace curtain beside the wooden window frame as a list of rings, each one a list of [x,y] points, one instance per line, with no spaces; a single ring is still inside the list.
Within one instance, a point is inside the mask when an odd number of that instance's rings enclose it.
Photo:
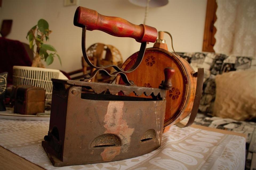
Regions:
[[[217,0],[215,53],[256,57],[256,0]]]

